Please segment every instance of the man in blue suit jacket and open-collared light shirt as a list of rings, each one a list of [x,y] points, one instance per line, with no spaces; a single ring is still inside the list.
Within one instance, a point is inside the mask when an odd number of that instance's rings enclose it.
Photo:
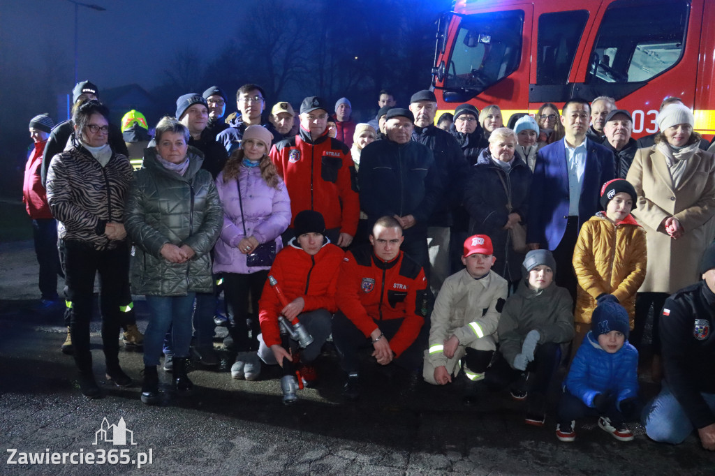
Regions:
[[[539,150],[531,182],[526,241],[545,248],[556,259],[556,284],[576,299],[573,248],[581,224],[601,208],[601,186],[616,178],[613,152],[586,139],[591,108],[588,101],[569,99],[563,105],[563,140]]]

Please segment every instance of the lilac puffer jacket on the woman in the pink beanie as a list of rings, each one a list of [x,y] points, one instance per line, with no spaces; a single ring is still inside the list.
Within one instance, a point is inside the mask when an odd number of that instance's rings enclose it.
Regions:
[[[247,267],[246,255],[237,248],[247,236],[259,243],[275,241],[277,251],[282,248],[280,234],[290,224],[290,198],[278,177],[278,188],[269,187],[261,177],[258,167],[240,167],[238,179],[243,200],[242,217],[236,179],[224,182],[223,172],[216,179],[216,187],[224,207],[224,224],[221,237],[214,248],[214,272],[250,274],[270,267]],[[246,234],[242,221],[245,220]]]

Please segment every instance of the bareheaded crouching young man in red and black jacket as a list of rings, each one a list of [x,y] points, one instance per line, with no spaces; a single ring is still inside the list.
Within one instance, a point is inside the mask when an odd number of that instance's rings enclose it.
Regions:
[[[418,336],[425,323],[427,280],[422,267],[400,251],[403,240],[399,222],[382,217],[370,234],[372,246],[347,252],[340,267],[335,294],[340,310],[332,320],[332,339],[347,372],[342,395],[349,400],[359,397],[361,348],[372,346],[380,365],[395,361],[410,377],[420,375],[423,339]]]

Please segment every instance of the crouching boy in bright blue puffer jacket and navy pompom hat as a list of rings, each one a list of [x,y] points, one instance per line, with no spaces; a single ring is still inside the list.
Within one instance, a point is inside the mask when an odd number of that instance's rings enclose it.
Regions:
[[[578,347],[558,404],[556,437],[573,441],[575,420],[598,416],[598,427],[619,441],[633,440],[624,424],[638,420],[638,351],[628,343],[628,312],[611,300],[593,311],[591,331]]]

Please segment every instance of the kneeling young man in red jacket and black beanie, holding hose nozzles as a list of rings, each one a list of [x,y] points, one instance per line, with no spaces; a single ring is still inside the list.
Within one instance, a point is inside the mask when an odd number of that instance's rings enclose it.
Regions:
[[[312,362],[320,355],[322,344],[330,336],[330,319],[337,310],[335,285],[344,252],[325,237],[325,220],[312,210],[303,210],[295,217],[296,237],[275,257],[270,269],[288,300],[287,306],[266,281],[258,303],[261,332],[258,336],[258,357],[269,365],[292,360],[298,351],[295,340],[289,339],[290,354],[282,347],[278,317],[283,315],[301,324],[313,338],[300,349],[300,373],[307,384],[317,379]]]

